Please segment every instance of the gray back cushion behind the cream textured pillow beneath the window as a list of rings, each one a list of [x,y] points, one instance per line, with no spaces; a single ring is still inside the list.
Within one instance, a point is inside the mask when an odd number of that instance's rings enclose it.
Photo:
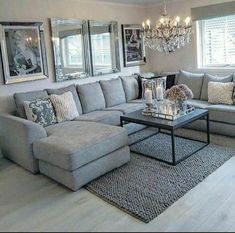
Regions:
[[[210,74],[205,74],[205,78],[202,85],[202,93],[201,100],[208,100],[208,84],[209,82],[220,82],[220,83],[228,83],[232,82],[233,75],[229,75],[227,77],[218,77]]]

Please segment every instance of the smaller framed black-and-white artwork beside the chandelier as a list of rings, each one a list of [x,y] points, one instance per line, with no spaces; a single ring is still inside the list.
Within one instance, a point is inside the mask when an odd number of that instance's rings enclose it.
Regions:
[[[143,29],[141,25],[122,25],[124,66],[146,64]]]

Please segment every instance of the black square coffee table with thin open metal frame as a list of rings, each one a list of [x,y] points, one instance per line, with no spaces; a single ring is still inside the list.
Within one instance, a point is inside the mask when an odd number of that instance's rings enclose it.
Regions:
[[[176,152],[175,152],[175,137],[180,137],[175,135],[175,130],[182,128],[194,121],[200,120],[200,119],[205,119],[207,122],[207,141],[200,141],[200,140],[195,140],[191,138],[185,138],[188,140],[192,141],[197,141],[197,142],[202,142],[205,143],[200,149],[197,151],[179,159],[176,160]],[[189,158],[190,156],[194,155],[195,153],[199,152],[206,146],[210,144],[210,119],[209,119],[209,111],[208,110],[203,110],[203,109],[196,109],[194,112],[189,113],[188,115],[185,115],[177,120],[170,121],[170,120],[165,120],[165,119],[159,119],[159,118],[153,118],[151,116],[143,116],[142,111],[137,111],[133,112],[131,114],[127,114],[125,116],[121,116],[121,126],[123,127],[124,123],[136,123],[136,124],[141,124],[141,125],[146,125],[148,127],[154,127],[158,129],[157,133],[163,133],[162,130],[170,132],[171,135],[171,142],[172,142],[172,162],[168,162],[165,160],[157,159],[160,162],[167,163],[169,165],[176,166],[177,164],[181,163],[185,159]],[[153,135],[149,136],[152,137]],[[147,137],[147,138],[149,138]],[[134,144],[141,142],[143,140],[146,140],[147,138],[141,139]]]

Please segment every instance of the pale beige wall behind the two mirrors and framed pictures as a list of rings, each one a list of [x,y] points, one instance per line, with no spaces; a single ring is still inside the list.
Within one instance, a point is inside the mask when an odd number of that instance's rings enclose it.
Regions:
[[[51,17],[78,18],[94,20],[116,20],[119,22],[120,56],[122,72],[115,75],[90,77],[80,81],[67,81],[55,83],[53,51],[48,19]],[[41,21],[45,26],[45,39],[47,60],[49,67],[49,79],[21,84],[3,85],[3,77],[0,74],[0,112],[12,112],[15,104],[12,98],[15,92],[27,92],[44,88],[57,88],[71,83],[93,82],[98,79],[109,79],[118,75],[128,75],[139,72],[139,67],[124,68],[122,54],[121,24],[141,23],[145,18],[143,7],[124,5],[92,3],[79,0],[0,0],[0,21]]]

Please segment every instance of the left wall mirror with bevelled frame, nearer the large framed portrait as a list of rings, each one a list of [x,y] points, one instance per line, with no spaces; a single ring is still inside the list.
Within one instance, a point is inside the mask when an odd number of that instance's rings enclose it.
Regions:
[[[56,81],[87,77],[90,72],[88,23],[51,19]]]

